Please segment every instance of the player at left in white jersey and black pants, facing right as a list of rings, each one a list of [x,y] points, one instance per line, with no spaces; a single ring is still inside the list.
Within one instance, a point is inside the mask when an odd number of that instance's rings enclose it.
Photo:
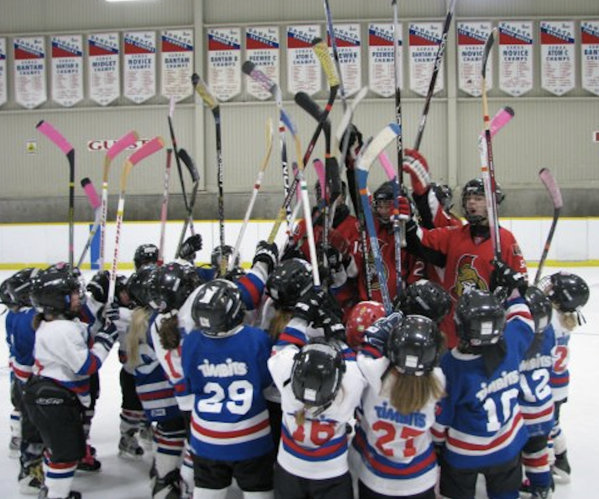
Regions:
[[[23,399],[47,449],[42,499],[81,497],[71,484],[86,452],[83,413],[92,403],[90,376],[118,335],[114,326],[107,326],[89,346],[89,332],[77,318],[83,299],[84,285],[69,268],[50,268],[32,283],[31,301],[38,312],[35,365]]]

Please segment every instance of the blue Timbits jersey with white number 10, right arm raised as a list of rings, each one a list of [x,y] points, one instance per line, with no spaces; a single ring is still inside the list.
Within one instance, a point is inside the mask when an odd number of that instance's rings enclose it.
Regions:
[[[515,458],[528,440],[518,404],[519,365],[533,341],[533,321],[522,298],[507,309],[506,355],[491,376],[481,355],[458,348],[441,359],[446,396],[432,435],[444,443],[443,456],[456,468],[500,465]]]

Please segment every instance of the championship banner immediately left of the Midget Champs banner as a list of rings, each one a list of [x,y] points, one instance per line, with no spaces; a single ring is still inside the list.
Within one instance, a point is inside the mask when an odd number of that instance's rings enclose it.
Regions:
[[[52,37],[52,100],[72,107],[83,100],[83,37]]]

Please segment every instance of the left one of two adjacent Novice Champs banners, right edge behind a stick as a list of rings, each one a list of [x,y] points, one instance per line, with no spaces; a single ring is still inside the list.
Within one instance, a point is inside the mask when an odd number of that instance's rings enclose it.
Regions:
[[[458,23],[458,86],[462,92],[480,97],[483,52],[493,26],[491,23]],[[486,89],[493,88],[493,52],[486,68]]]

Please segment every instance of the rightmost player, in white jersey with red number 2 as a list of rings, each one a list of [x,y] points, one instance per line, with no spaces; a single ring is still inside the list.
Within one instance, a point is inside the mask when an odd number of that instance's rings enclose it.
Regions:
[[[550,436],[555,454],[552,473],[556,483],[568,483],[571,467],[568,461],[564,432],[559,424],[559,414],[562,405],[568,400],[570,334],[583,321],[580,309],[589,300],[589,286],[582,277],[561,271],[543,277],[539,282],[539,288],[549,297],[555,312],[551,321],[555,331],[553,371],[550,378],[551,392],[555,403],[555,421]]]

